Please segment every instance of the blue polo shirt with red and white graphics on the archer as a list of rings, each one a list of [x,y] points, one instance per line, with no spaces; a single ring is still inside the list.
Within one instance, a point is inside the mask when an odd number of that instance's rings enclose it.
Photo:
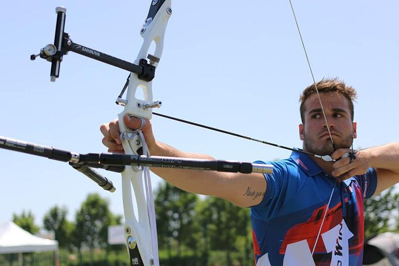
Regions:
[[[363,199],[375,192],[375,170],[370,168],[339,184],[308,155],[296,151],[287,159],[267,164],[274,169],[273,174],[265,174],[265,196],[251,207],[256,265],[361,266]]]

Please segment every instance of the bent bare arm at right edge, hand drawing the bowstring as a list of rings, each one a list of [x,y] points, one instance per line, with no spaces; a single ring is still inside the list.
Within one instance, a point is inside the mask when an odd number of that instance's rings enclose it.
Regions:
[[[332,155],[340,158],[348,149],[338,149]],[[355,175],[362,175],[373,167],[377,173],[377,188],[374,195],[399,182],[399,143],[389,143],[382,146],[360,150],[357,158],[350,162],[349,158],[341,158],[333,164],[333,176],[340,180]]]

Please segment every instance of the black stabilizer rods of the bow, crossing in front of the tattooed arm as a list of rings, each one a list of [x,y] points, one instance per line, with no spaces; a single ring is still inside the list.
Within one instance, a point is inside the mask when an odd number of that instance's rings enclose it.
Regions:
[[[3,136],[0,136],[0,148],[42,156],[61,162],[69,162],[70,165],[72,165],[72,167],[74,167],[75,169],[80,168],[79,166],[85,166],[87,168],[91,167],[103,168],[114,172],[122,172],[123,166],[130,165],[130,166],[139,166],[139,167],[147,166],[147,167],[175,168],[175,169],[211,170],[219,172],[244,173],[244,174],[273,173],[272,165],[245,163],[237,161],[165,157],[165,156],[145,156],[145,155],[119,154],[119,153],[80,154],[68,150],[54,148],[51,146],[43,146],[35,143],[29,143],[23,140],[6,138]],[[103,188],[105,188],[104,182],[110,183],[112,186],[112,182],[105,177],[93,178],[95,174],[98,174],[93,170],[86,171],[86,169],[83,168],[83,171],[80,172],[84,174],[89,172],[87,176],[93,181],[95,181],[98,185],[102,186]]]

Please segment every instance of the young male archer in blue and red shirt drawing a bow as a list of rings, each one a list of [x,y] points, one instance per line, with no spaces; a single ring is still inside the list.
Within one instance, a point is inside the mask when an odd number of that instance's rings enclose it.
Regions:
[[[399,182],[399,143],[356,151],[356,158],[344,155],[357,137],[355,89],[337,79],[316,85],[325,118],[311,85],[300,98],[303,150],[331,155],[336,162],[294,151],[287,159],[267,162],[274,166],[271,175],[152,169],[183,190],[251,207],[258,266],[362,265],[363,199]],[[141,124],[137,118],[123,120],[132,129]],[[123,152],[117,120],[101,131],[110,152]],[[149,121],[142,132],[152,155],[213,159],[158,142]]]

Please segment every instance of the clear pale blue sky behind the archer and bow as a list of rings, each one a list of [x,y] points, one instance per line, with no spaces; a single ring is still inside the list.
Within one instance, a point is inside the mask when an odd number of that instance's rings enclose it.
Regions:
[[[105,152],[99,126],[122,112],[115,104],[127,71],[69,52],[60,78],[37,59],[53,43],[55,8],[67,8],[74,42],[133,62],[150,1],[7,1],[0,9],[0,135],[79,153]],[[355,148],[399,141],[399,3],[293,1],[317,80],[339,77],[358,91]],[[288,1],[174,1],[153,81],[162,114],[301,147],[298,97],[312,77]],[[236,161],[290,152],[154,117],[159,141]],[[0,222],[31,210],[35,223],[53,206],[68,218],[89,193],[123,214],[120,174],[102,172],[110,193],[66,163],[0,150]],[[153,175],[154,189],[161,179]]]

